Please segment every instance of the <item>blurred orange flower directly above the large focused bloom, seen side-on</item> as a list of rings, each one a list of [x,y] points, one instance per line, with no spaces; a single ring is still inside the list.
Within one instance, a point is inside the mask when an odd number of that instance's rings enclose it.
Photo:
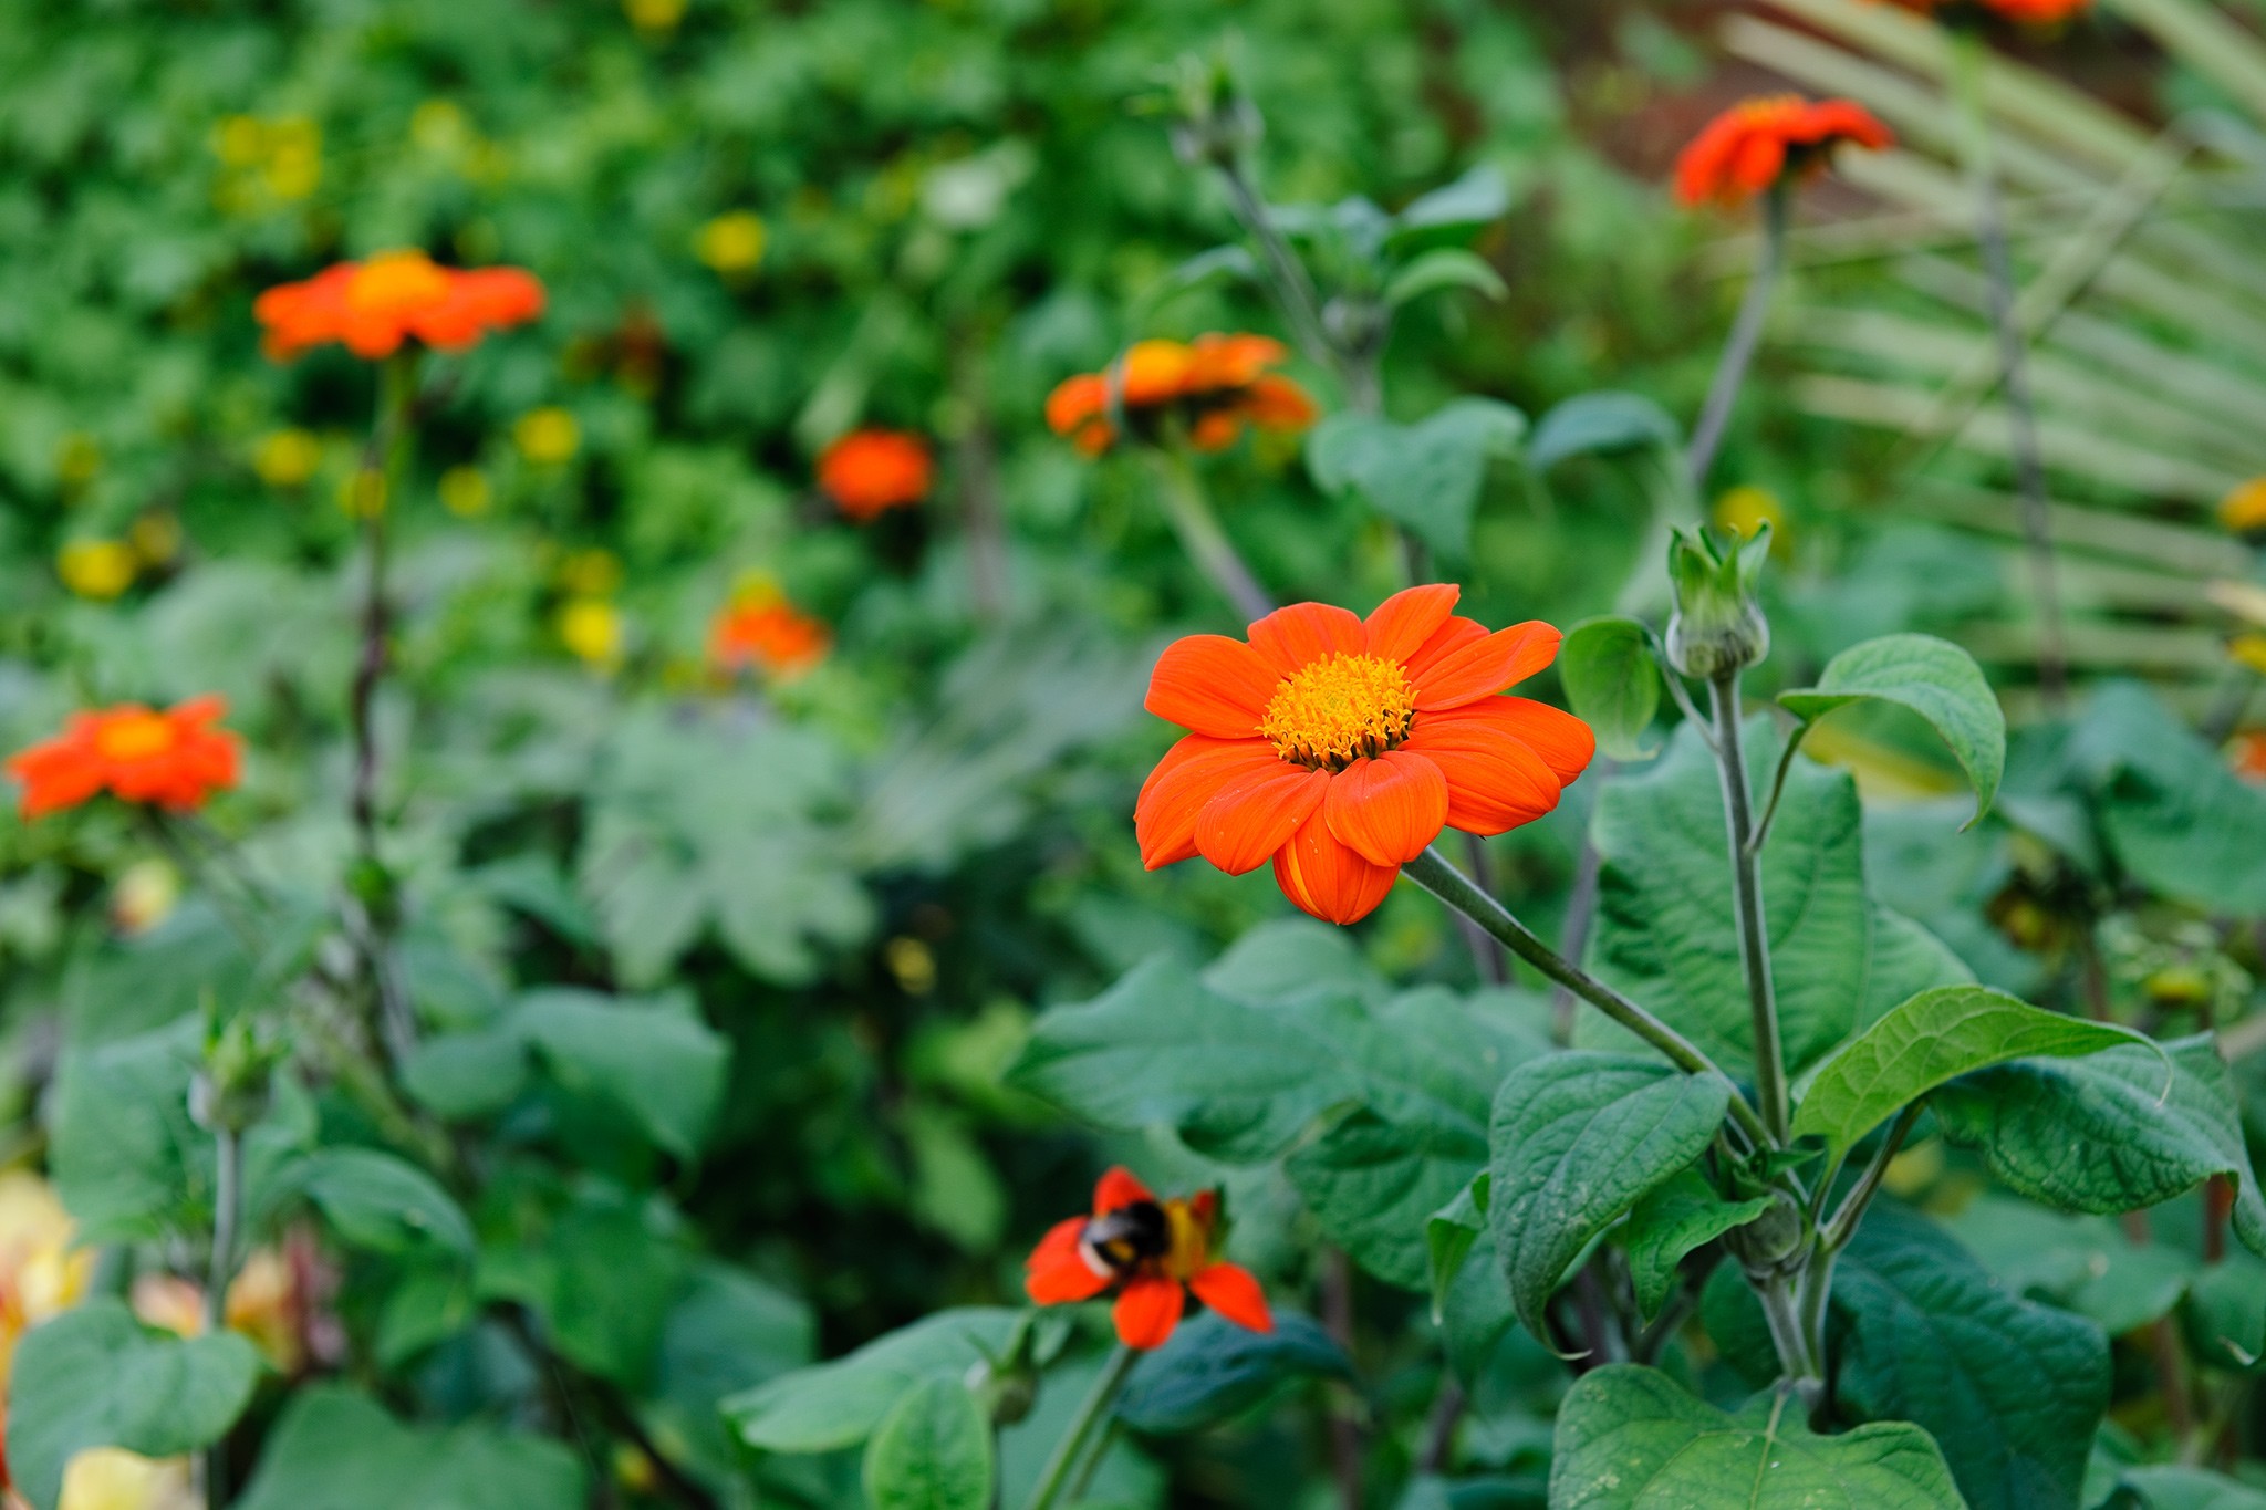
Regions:
[[[1267,335],[1199,335],[1194,344],[1135,342],[1117,362],[1119,405],[1138,439],[1156,439],[1167,414],[1187,426],[1196,451],[1226,451],[1244,432],[1298,432],[1314,423],[1312,396],[1267,371],[1289,355]],[[1047,396],[1047,426],[1085,455],[1101,455],[1110,426],[1110,374],[1067,378]]]

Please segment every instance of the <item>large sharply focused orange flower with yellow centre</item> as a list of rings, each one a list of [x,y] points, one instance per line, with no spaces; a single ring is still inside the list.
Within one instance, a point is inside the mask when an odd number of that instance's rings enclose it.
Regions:
[[[1351,924],[1441,829],[1505,833],[1554,808],[1595,736],[1496,693],[1550,666],[1561,636],[1539,620],[1489,634],[1453,614],[1457,595],[1412,586],[1366,620],[1301,602],[1249,643],[1165,650],[1144,706],[1190,733],[1142,786],[1142,863],[1201,853],[1242,876],[1271,856],[1285,896]]]

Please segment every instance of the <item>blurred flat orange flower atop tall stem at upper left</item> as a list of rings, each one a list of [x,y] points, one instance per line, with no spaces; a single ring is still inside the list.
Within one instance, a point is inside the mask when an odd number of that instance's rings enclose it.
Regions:
[[[252,306],[267,326],[267,355],[342,342],[358,358],[387,358],[417,337],[442,351],[544,312],[544,285],[519,267],[440,267],[424,251],[381,251],[338,263],[306,283],[270,288]]]

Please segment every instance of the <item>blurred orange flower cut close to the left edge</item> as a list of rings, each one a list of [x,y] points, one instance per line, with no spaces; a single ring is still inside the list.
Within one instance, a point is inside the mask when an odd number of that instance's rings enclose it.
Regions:
[[[9,756],[23,781],[23,815],[59,813],[111,792],[188,813],[236,786],[240,740],[213,724],[229,711],[220,697],[193,697],[165,713],[138,702],[73,713],[52,740]]]

